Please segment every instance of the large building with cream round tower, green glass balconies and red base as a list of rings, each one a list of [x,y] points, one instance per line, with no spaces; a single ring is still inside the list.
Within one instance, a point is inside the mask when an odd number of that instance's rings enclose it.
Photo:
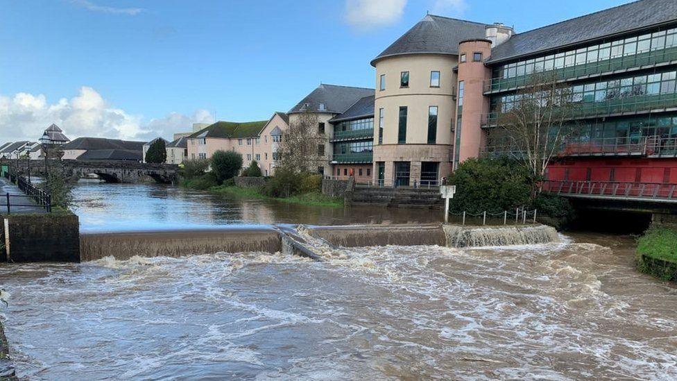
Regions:
[[[487,132],[543,72],[571,86],[579,103],[572,124],[581,127],[551,178],[677,182],[676,27],[674,0],[635,1],[524,33],[427,15],[371,62],[372,176],[437,183],[463,160],[509,151]],[[567,153],[581,143],[589,152]]]

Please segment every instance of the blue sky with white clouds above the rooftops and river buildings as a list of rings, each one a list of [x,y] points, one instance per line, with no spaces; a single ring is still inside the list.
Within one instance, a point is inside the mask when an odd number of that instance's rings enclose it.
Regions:
[[[266,120],[320,83],[374,87],[370,60],[426,12],[519,33],[627,2],[0,0],[0,144]]]

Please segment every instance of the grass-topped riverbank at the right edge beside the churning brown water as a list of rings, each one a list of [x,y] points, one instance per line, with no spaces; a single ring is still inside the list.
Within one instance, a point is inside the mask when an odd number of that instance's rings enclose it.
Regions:
[[[677,282],[677,228],[655,225],[637,240],[637,270]]]

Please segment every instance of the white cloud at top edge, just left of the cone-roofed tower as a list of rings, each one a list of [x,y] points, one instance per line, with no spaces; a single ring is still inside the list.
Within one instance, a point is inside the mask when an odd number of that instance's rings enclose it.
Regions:
[[[406,0],[346,0],[345,21],[366,31],[400,21]]]

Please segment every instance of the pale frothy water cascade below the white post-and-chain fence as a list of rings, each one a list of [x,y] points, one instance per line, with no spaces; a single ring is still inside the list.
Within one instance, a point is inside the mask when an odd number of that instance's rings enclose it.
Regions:
[[[559,242],[551,226],[443,226],[448,247],[510,246]]]

